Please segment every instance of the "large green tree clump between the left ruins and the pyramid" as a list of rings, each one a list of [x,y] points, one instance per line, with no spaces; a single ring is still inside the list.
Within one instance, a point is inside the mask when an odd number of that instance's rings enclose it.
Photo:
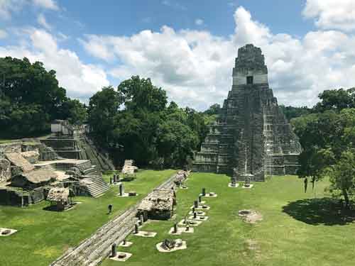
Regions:
[[[102,145],[124,145],[119,159],[157,169],[185,165],[207,133],[202,113],[173,101],[167,106],[165,91],[138,76],[121,82],[117,92],[109,87],[94,94],[89,124]]]

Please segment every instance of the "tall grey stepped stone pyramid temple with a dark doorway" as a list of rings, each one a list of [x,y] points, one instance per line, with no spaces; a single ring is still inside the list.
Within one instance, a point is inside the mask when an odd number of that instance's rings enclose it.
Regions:
[[[295,174],[301,146],[268,86],[268,68],[260,48],[238,50],[233,85],[217,121],[196,154],[193,170],[250,177]]]

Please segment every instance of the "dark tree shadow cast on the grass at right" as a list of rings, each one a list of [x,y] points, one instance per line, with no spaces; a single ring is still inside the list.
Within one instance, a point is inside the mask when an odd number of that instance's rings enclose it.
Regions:
[[[339,201],[330,198],[293,201],[283,206],[283,212],[313,226],[344,226],[355,221],[354,210],[346,210]]]

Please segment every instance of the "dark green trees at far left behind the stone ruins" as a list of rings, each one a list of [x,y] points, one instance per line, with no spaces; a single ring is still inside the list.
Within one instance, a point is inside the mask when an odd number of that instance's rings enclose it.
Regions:
[[[55,71],[47,71],[41,62],[0,58],[1,136],[26,137],[49,130],[56,118],[84,123],[86,110],[77,100],[65,95]]]

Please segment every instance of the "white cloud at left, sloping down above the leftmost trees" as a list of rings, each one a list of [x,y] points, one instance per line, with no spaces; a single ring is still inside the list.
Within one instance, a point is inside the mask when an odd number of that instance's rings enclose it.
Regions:
[[[60,86],[69,96],[87,100],[103,86],[107,86],[107,74],[96,65],[84,64],[75,52],[58,48],[57,40],[47,31],[30,28],[23,31],[28,42],[20,46],[0,47],[0,57],[28,57],[31,62],[44,63],[47,70],[55,70]]]

